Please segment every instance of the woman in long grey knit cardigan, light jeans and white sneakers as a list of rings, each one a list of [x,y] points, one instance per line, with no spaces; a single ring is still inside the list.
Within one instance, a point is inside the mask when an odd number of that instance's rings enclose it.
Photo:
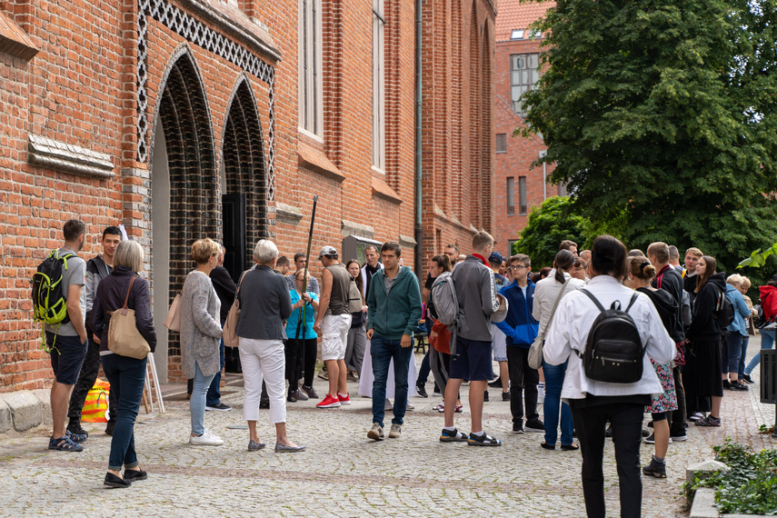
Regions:
[[[192,433],[189,443],[218,446],[224,441],[205,430],[205,395],[216,373],[221,369],[219,339],[222,329],[219,320],[221,301],[211,284],[211,270],[218,262],[221,249],[205,238],[192,245],[192,259],[197,269],[189,272],[181,293],[181,358],[184,375],[194,378],[190,400]]]

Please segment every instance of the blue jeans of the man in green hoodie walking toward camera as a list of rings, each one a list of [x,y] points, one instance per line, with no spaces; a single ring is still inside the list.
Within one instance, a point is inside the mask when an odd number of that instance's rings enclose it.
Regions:
[[[373,334],[373,340],[370,343],[374,374],[373,423],[379,423],[381,426],[384,425],[386,379],[392,359],[394,379],[392,424],[404,423],[404,413],[407,410],[407,373],[410,370],[413,347],[403,347],[400,343],[401,340],[387,340],[377,334]]]

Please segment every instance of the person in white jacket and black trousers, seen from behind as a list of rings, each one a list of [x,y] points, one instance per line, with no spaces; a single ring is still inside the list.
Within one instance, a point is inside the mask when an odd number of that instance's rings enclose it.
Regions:
[[[592,279],[586,289],[605,308],[616,300],[621,302],[622,308],[626,308],[634,294],[633,290],[621,284],[625,259],[625,246],[613,236],[602,235],[593,242]],[[553,365],[569,360],[562,398],[572,408],[574,428],[583,453],[586,512],[589,516],[605,515],[602,461],[604,429],[609,421],[613,427],[615,461],[618,464],[621,516],[640,516],[640,443],[644,406],[651,403],[652,394],[663,392],[648,355],[660,364],[668,364],[674,357],[674,342],[664,329],[651,300],[645,294],[638,294],[629,314],[646,348],[642,379],[633,384],[594,381],[585,375],[583,361],[577,352],[584,352],[589,331],[599,314],[599,309],[582,291],[564,296],[545,336],[544,359]]]

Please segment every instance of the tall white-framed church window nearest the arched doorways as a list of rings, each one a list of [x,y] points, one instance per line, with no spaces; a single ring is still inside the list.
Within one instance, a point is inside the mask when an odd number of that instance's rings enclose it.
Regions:
[[[321,0],[299,0],[299,126],[324,137]]]

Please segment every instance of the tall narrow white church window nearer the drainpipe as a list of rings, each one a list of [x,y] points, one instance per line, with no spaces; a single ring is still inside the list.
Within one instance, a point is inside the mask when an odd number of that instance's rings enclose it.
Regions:
[[[373,0],[373,166],[385,171],[384,0]]]

